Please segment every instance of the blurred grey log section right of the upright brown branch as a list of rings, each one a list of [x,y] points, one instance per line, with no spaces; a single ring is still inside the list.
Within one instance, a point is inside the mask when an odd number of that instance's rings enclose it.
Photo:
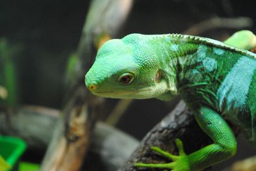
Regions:
[[[139,142],[130,135],[104,123],[97,123],[92,136],[92,146],[83,170],[117,170],[124,165]],[[97,154],[97,158],[93,158]],[[97,163],[97,165],[95,165]],[[100,165],[102,167],[100,167]]]

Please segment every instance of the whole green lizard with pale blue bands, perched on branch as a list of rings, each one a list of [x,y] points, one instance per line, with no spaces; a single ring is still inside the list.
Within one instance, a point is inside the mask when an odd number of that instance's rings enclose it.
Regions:
[[[252,36],[249,45],[255,41]],[[129,34],[109,40],[85,76],[88,89],[106,98],[172,100],[177,94],[182,96],[213,144],[186,154],[177,139],[178,156],[152,147],[171,163],[135,163],[136,167],[175,171],[202,170],[236,154],[236,138],[223,118],[239,126],[256,147],[255,80],[252,52],[182,34]]]

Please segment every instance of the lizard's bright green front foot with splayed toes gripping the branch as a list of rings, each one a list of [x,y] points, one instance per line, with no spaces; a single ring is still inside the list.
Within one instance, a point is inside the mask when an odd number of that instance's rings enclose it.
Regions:
[[[151,147],[152,151],[159,153],[161,156],[172,160],[171,163],[135,163],[134,167],[145,167],[145,168],[168,168],[175,171],[189,170],[188,155],[185,154],[183,144],[180,139],[175,140],[176,145],[179,149],[179,155],[175,156],[169,152],[163,151],[159,147]]]

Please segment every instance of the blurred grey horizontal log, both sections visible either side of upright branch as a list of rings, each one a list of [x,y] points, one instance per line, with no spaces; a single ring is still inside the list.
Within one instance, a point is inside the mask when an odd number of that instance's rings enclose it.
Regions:
[[[59,114],[59,110],[36,106],[24,106],[15,110],[2,109],[0,134],[26,140],[28,148],[33,152],[45,151],[53,133],[49,128],[54,128]],[[83,170],[117,170],[139,144],[138,140],[104,123],[97,123],[92,134],[92,145],[88,158],[85,158]],[[99,165],[93,165],[95,162]]]

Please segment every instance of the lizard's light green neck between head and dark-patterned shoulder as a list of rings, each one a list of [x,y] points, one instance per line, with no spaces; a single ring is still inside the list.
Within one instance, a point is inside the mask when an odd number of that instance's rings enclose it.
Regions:
[[[158,98],[170,100],[179,93],[180,75],[188,64],[195,61],[192,56],[197,52],[199,45],[184,38],[173,37],[173,34],[154,35],[150,42],[156,50],[162,77],[168,87],[166,93]]]

